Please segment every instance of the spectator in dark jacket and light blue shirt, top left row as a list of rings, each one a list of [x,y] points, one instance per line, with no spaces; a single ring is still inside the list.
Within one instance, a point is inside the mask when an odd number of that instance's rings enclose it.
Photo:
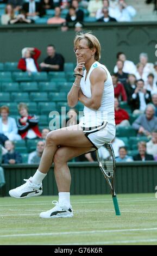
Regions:
[[[39,2],[35,2],[35,0],[25,2],[22,9],[30,20],[36,20],[46,14],[45,9],[41,8],[41,4]]]

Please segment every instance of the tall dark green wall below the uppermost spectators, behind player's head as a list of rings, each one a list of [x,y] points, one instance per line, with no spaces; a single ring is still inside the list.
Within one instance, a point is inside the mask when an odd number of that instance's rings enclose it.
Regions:
[[[102,45],[101,62],[112,67],[116,53],[123,51],[127,58],[137,63],[139,53],[147,52],[149,61],[155,62],[157,44],[156,22],[117,23],[116,25],[88,23],[86,31],[93,31]],[[0,26],[0,62],[17,62],[23,47],[37,47],[42,51],[39,62],[46,56],[47,44],[54,44],[56,51],[65,56],[66,62],[75,62],[73,53],[74,31],[61,32],[60,27],[52,25],[10,25]]]

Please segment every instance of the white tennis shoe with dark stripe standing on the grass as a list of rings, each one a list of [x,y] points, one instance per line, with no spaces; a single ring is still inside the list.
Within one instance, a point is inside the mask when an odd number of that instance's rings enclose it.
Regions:
[[[39,215],[41,218],[69,218],[73,217],[72,207],[61,205],[58,201],[52,201],[55,204],[54,208],[48,211],[43,211]]]

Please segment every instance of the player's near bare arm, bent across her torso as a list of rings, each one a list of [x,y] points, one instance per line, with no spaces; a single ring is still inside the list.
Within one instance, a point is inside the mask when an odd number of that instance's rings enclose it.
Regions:
[[[107,79],[107,74],[102,68],[96,68],[90,75],[91,82],[91,97],[86,97],[81,89],[79,90],[79,101],[82,102],[86,107],[92,109],[99,109],[102,102],[102,95],[104,91],[104,82]]]

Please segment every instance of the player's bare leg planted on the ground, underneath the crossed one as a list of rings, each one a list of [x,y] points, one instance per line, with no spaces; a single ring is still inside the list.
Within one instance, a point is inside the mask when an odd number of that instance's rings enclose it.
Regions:
[[[67,161],[90,151],[91,148],[61,147],[54,155],[54,175],[59,192],[70,192],[71,174]]]

